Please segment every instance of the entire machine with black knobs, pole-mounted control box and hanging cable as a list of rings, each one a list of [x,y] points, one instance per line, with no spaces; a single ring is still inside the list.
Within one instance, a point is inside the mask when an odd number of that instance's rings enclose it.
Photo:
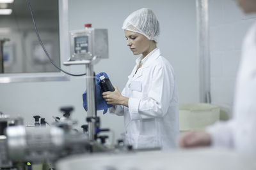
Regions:
[[[33,11],[28,1],[29,10],[33,19],[36,36],[45,54],[51,60],[41,41],[33,17]],[[100,132],[109,129],[100,129],[100,118],[97,117],[95,103],[95,73],[93,65],[100,59],[108,58],[108,31],[107,29],[94,29],[91,24],[86,24],[85,29],[70,31],[70,59],[65,65],[83,64],[86,69],[86,89],[88,116],[83,125],[83,131],[73,131],[76,123],[70,118],[73,108],[61,108],[63,117],[53,117],[54,123],[49,124],[45,118],[35,115],[35,124],[24,126],[19,118],[8,124],[7,117],[0,117],[0,169],[26,169],[24,163],[54,163],[63,157],[83,153],[88,155],[95,152],[126,152],[132,147],[126,147],[123,141],[118,142],[115,148],[107,148],[104,143],[108,136],[99,135]],[[52,60],[51,60],[52,62]],[[53,62],[52,64],[56,66]],[[57,67],[57,66],[56,66]],[[58,68],[60,69],[60,68]],[[63,71],[62,69],[60,69]],[[70,74],[72,76],[83,76],[84,74]],[[7,122],[7,123],[6,123]],[[46,125],[48,124],[48,125]],[[100,142],[97,141],[100,139]],[[30,164],[30,163],[29,163]],[[48,170],[48,169],[47,169]]]

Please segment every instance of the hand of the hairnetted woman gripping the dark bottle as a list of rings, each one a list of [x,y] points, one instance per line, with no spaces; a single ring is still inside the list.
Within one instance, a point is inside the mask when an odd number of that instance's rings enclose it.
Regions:
[[[107,104],[124,105],[128,107],[129,98],[122,96],[117,87],[114,87],[114,89],[114,92],[102,93],[102,96],[106,100]]]

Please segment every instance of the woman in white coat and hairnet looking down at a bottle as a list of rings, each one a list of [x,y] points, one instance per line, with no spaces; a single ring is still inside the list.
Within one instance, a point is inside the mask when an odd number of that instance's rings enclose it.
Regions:
[[[159,23],[152,10],[134,11],[124,21],[127,46],[136,59],[122,94],[102,95],[124,115],[125,143],[134,148],[174,148],[179,135],[179,104],[173,67],[157,48]]]

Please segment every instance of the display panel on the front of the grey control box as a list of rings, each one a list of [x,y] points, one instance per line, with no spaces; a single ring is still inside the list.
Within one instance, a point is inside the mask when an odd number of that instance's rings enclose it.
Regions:
[[[74,52],[87,53],[88,52],[88,36],[78,36],[74,39]]]

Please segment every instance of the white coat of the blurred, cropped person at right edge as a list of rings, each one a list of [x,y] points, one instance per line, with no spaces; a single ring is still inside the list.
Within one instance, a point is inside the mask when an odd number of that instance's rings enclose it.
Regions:
[[[213,145],[256,154],[256,23],[244,39],[233,111],[232,120],[207,129]]]

